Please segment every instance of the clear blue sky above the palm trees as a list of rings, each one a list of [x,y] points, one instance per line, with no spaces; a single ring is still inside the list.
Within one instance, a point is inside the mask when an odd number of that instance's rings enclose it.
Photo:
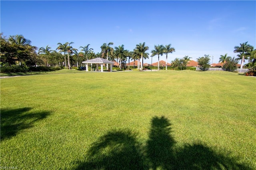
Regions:
[[[77,49],[90,44],[97,53],[106,42],[130,51],[145,42],[150,53],[154,45],[171,43],[176,51],[168,54],[169,63],[205,54],[218,63],[225,53],[236,57],[240,43],[256,47],[256,1],[1,0],[0,6],[4,36],[22,34],[37,47],[74,42]]]

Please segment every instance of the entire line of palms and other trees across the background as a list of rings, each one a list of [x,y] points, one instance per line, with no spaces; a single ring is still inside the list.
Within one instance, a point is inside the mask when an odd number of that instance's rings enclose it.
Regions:
[[[90,44],[80,46],[79,49],[72,47],[74,42],[58,43],[58,47],[52,50],[51,47],[35,47],[31,45],[31,41],[24,38],[22,35],[9,36],[8,38],[1,35],[1,49],[0,49],[0,64],[4,65],[24,65],[35,66],[44,65],[50,66],[62,66],[70,69],[72,66],[82,66],[82,61],[102,57],[110,61],[118,63],[120,69],[126,67],[126,61],[130,63],[130,60],[138,61],[136,67],[140,70],[143,69],[143,59],[149,58],[149,47],[145,42],[136,44],[136,47],[129,51],[124,48],[124,45],[112,47],[113,42],[103,43],[100,53],[95,53],[93,48],[90,48]],[[38,50],[38,52],[36,52]],[[158,56],[158,70],[159,70],[159,57],[160,55],[166,55],[166,69],[168,53],[175,52],[175,48],[171,44],[168,45],[154,45],[154,49],[151,50],[150,57]],[[234,71],[236,64],[241,60],[241,67],[244,59],[249,59],[247,64],[250,69],[256,69],[256,49],[248,42],[240,43],[240,46],[234,47],[234,53],[238,53],[237,58],[225,55],[220,55],[220,61],[224,63],[224,69],[228,71]],[[188,61],[190,61],[188,55],[183,58],[175,58],[171,61],[171,67],[175,69],[186,69]],[[200,68],[205,71],[210,67],[210,56],[204,55],[197,59]],[[135,65],[134,65],[135,66]],[[106,66],[108,68],[108,65]]]

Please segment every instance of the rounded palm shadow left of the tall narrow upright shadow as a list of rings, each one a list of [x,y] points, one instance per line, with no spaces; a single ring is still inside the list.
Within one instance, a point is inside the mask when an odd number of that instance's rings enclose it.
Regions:
[[[140,144],[132,132],[108,132],[93,144],[85,162],[78,162],[76,169],[142,169],[143,160],[139,148]]]

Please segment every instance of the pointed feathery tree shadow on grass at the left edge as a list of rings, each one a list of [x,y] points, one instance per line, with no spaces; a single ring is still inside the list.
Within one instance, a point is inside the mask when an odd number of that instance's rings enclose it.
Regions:
[[[32,108],[1,109],[0,111],[0,138],[1,140],[16,136],[18,132],[33,127],[36,121],[45,119],[50,112],[29,113]]]

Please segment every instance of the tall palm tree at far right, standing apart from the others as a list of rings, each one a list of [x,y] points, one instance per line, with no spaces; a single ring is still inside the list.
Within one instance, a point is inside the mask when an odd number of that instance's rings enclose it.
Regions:
[[[238,58],[239,60],[241,59],[241,69],[243,68],[243,64],[244,64],[244,59],[247,59],[248,56],[250,56],[250,52],[253,50],[253,46],[247,44],[248,42],[245,43],[240,43],[240,46],[235,46],[234,47],[234,53],[240,53],[238,54]]]

